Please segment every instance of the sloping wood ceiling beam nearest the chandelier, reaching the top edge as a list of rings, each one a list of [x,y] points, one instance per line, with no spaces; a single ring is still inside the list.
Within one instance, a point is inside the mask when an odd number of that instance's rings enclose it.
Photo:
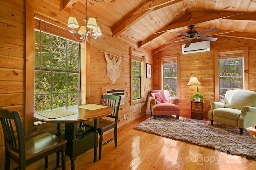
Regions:
[[[122,21],[121,22],[122,24],[118,26],[114,25],[112,27],[113,35],[114,36],[120,35],[126,29],[134,25],[136,22],[138,22],[140,19],[144,18],[146,15],[150,14],[150,12],[154,10],[165,8],[167,6],[170,6],[182,1],[184,0],[161,0],[161,1],[151,0],[147,2],[144,6],[142,6],[139,10],[134,12],[132,16],[130,16],[127,20],[125,19],[124,21]]]

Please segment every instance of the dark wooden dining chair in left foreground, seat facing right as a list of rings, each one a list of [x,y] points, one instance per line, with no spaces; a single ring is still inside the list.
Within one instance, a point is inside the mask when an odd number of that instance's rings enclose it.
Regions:
[[[5,170],[10,169],[10,159],[18,164],[20,170],[25,170],[26,165],[44,158],[44,168],[48,168],[48,155],[59,151],[62,152],[62,170],[66,169],[65,139],[51,133],[25,139],[18,111],[0,108],[0,121],[4,132]]]

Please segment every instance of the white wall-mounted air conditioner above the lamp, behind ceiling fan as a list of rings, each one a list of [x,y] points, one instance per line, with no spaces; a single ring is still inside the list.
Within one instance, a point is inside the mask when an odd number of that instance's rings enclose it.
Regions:
[[[210,51],[210,41],[201,41],[198,43],[191,43],[189,47],[185,48],[185,44],[182,45],[182,53],[199,53],[204,51]]]

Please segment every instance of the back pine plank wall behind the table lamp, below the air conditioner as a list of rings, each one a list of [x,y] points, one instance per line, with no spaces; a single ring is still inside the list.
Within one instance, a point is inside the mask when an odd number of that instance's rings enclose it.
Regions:
[[[191,115],[191,104],[188,101],[190,95],[196,92],[194,86],[187,86],[191,76],[196,76],[201,83],[198,86],[198,91],[204,97],[204,118],[208,118],[208,111],[210,110],[210,102],[214,101],[214,55],[215,51],[220,49],[232,49],[237,47],[248,47],[249,60],[249,89],[256,91],[256,41],[250,39],[238,39],[231,37],[217,37],[218,40],[210,42],[210,51],[201,53],[182,54],[181,45],[185,41],[176,43],[170,47],[153,55],[153,75],[154,86],[153,89],[159,89],[159,78],[161,77],[160,65],[158,64],[162,57],[172,57],[180,55],[180,108],[181,115]],[[193,42],[196,42],[193,40]]]

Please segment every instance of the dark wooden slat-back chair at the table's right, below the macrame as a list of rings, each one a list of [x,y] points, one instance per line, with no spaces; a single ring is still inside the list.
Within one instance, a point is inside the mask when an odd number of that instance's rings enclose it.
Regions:
[[[101,150],[102,146],[106,145],[113,139],[115,140],[115,147],[117,147],[117,121],[118,121],[118,111],[119,111],[119,106],[120,106],[120,101],[121,101],[121,96],[112,96],[112,95],[102,95],[100,104],[105,104],[112,106],[114,108],[114,112],[111,115],[108,115],[107,117],[112,118],[113,120],[109,119],[99,119],[97,121],[97,127],[98,127],[98,133],[100,135],[100,141],[99,141],[99,160],[101,159]],[[92,121],[85,121],[84,126],[87,127],[94,127],[94,120]],[[103,142],[103,133],[113,129],[114,128],[114,137],[106,141],[105,143],[102,144]]]

